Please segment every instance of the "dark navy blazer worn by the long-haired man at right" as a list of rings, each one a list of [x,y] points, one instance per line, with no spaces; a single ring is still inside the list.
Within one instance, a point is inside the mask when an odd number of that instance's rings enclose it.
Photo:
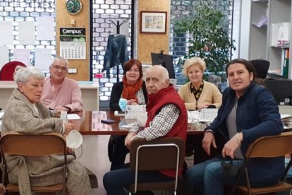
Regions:
[[[224,90],[218,116],[207,128],[214,131],[220,150],[224,143],[229,141],[226,118],[233,108],[235,97],[236,93],[231,88]],[[243,132],[241,143],[243,154],[250,143],[257,138],[281,134],[284,129],[279,107],[276,105],[272,93],[262,85],[251,83],[244,95],[238,99],[236,127],[238,132]],[[251,184],[257,185],[257,182],[262,181],[271,184],[278,181],[284,173],[284,157],[254,158],[250,160],[248,170]]]

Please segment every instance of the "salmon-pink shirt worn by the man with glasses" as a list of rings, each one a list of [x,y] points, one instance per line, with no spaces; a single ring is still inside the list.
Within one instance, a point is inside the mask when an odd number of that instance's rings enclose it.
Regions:
[[[51,109],[61,105],[68,107],[71,112],[83,110],[81,90],[76,81],[71,78],[64,78],[60,85],[51,83],[51,78],[44,79],[42,90],[42,103]]]

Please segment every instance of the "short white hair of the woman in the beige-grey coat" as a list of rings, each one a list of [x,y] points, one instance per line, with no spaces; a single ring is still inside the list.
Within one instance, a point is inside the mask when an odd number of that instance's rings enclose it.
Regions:
[[[35,67],[33,66],[30,67],[18,66],[16,67],[16,71],[14,72],[13,75],[14,81],[16,81],[16,83],[18,82],[27,83],[31,77],[44,79],[44,73],[42,73],[42,71],[39,71],[38,69],[35,69]]]

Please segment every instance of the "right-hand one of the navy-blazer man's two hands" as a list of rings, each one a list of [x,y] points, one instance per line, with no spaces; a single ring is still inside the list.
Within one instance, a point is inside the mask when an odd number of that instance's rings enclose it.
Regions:
[[[230,158],[232,159],[235,158],[235,151],[239,146],[241,146],[240,143],[243,139],[242,133],[238,134],[238,138],[237,135],[234,135],[227,143],[225,143],[224,148],[222,150],[223,158],[226,158],[226,156],[230,156]]]

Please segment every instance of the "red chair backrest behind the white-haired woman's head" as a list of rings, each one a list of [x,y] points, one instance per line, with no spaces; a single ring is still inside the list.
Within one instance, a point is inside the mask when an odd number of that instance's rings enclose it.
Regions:
[[[0,70],[0,81],[13,81],[13,73],[17,66],[26,67],[21,61],[9,61]]]

